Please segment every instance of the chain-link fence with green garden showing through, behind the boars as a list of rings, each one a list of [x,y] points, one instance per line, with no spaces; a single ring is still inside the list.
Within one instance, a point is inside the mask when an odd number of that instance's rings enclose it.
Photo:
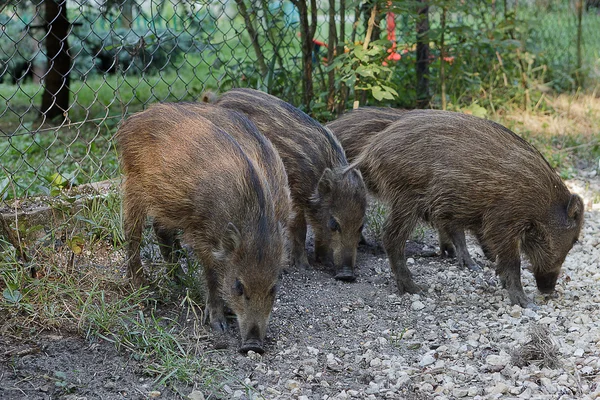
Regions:
[[[573,90],[598,76],[598,6],[0,0],[0,204],[117,176],[124,116],[209,89],[258,88],[321,119]]]

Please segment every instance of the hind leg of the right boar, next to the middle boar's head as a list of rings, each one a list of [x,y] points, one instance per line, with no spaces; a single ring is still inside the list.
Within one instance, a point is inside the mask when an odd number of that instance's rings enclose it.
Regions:
[[[404,255],[406,240],[416,224],[414,214],[407,212],[406,209],[402,210],[402,207],[394,207],[383,228],[383,247],[390,259],[390,268],[396,278],[400,294],[421,292],[421,288],[413,281],[412,274],[406,266]]]

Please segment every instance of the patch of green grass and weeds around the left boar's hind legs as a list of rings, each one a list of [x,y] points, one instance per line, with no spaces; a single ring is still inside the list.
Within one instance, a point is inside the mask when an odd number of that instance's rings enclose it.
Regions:
[[[120,196],[109,193],[29,243],[27,268],[0,238],[0,325],[5,332],[27,337],[56,329],[108,341],[139,361],[156,387],[199,383],[218,391],[225,379],[236,381],[227,370],[209,367],[199,346],[205,333],[197,302],[202,294],[195,292],[197,263],[185,277],[192,289],[183,294],[169,291],[173,285],[161,283],[166,279],[161,273],[150,288],[133,289],[121,278],[121,225]],[[173,299],[178,299],[175,307],[168,305]]]

